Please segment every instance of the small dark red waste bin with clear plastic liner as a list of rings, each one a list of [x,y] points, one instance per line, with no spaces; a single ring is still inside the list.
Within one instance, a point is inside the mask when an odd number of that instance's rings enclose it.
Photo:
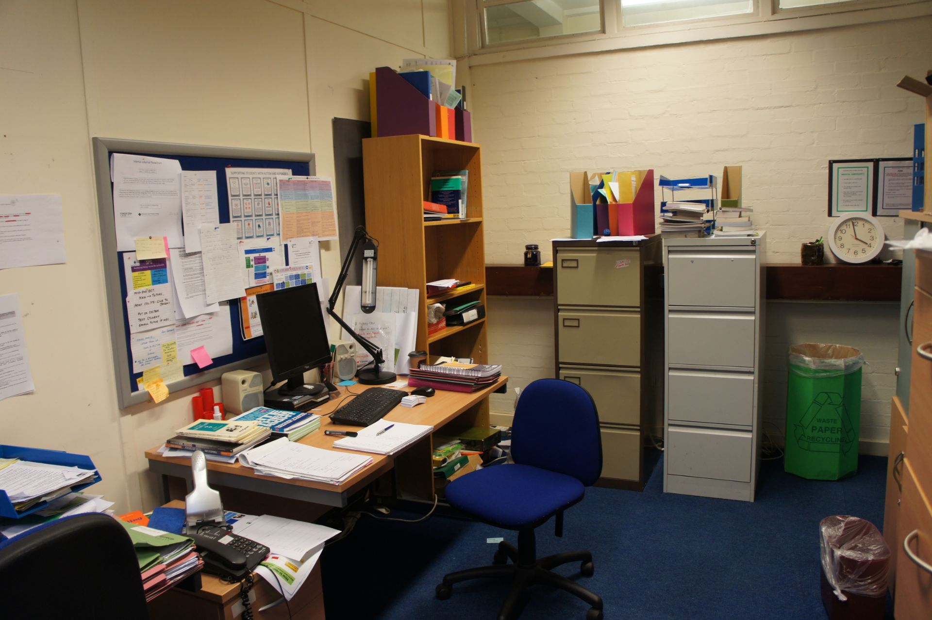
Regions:
[[[819,523],[822,604],[829,620],[883,620],[890,547],[873,523],[835,515]]]

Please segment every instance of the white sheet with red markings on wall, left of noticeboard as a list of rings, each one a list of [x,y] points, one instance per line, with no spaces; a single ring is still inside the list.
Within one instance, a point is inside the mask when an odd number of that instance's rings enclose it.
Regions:
[[[64,263],[62,196],[0,195],[0,269]]]

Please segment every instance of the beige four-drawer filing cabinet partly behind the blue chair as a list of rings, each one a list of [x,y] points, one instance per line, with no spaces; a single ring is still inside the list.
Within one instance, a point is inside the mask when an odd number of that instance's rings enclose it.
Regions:
[[[662,424],[661,249],[659,235],[554,241],[556,376],[582,385],[596,401],[601,486],[644,488],[645,435]]]

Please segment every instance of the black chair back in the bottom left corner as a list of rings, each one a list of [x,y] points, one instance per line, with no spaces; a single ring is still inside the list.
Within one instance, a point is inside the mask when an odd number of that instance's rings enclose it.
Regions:
[[[99,513],[58,519],[0,543],[0,616],[147,620],[130,534]]]

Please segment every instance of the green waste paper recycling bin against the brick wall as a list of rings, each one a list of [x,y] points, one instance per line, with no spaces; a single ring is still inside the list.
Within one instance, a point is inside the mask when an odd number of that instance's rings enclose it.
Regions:
[[[864,356],[843,344],[789,347],[784,469],[811,480],[857,472]]]

